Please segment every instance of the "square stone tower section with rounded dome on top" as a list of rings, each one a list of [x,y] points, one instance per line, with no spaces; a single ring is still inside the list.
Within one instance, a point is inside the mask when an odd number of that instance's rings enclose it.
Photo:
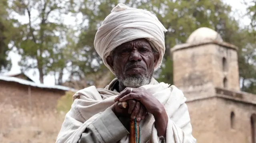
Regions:
[[[172,48],[174,85],[191,96],[214,87],[240,90],[237,47],[207,27],[194,31],[186,43]]]

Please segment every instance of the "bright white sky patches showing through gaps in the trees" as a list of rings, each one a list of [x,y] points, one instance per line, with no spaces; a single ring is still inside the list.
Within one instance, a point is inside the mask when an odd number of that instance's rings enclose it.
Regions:
[[[243,25],[248,25],[250,24],[250,20],[247,17],[243,17],[241,18],[239,15],[237,15],[237,13],[244,15],[246,13],[246,6],[242,4],[244,0],[224,0],[225,3],[229,4],[230,6],[232,6],[232,11],[236,12],[236,15],[234,15],[234,17],[236,19],[240,20],[240,23]],[[248,1],[248,0],[245,0]],[[36,12],[32,12],[34,14],[36,14]],[[22,23],[28,23],[28,18],[26,16],[16,16],[16,18],[18,18],[18,20]],[[78,19],[82,19],[81,15],[78,15]],[[75,23],[76,18],[71,16],[71,15],[66,15],[64,17],[64,24],[67,25],[72,25]],[[13,51],[11,51],[8,55],[8,57],[11,59],[12,61],[12,68],[10,70],[10,72],[8,72],[8,74],[15,74],[20,72],[20,67],[18,66],[18,61],[20,61],[21,56],[14,53]],[[30,76],[30,78],[32,78],[35,82],[39,83],[39,72],[38,70],[30,70],[30,71],[26,71],[26,74],[28,74]],[[66,80],[68,78],[68,73],[66,73],[64,75],[64,80]],[[44,76],[44,84],[46,85],[54,85],[54,76],[52,75],[48,75],[48,76]]]

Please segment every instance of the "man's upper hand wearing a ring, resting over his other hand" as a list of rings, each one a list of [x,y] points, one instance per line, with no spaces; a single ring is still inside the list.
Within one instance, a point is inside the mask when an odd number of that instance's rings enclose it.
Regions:
[[[153,116],[159,116],[165,112],[164,106],[154,96],[149,94],[145,88],[125,88],[115,98],[115,101],[124,102],[130,99],[140,101]]]

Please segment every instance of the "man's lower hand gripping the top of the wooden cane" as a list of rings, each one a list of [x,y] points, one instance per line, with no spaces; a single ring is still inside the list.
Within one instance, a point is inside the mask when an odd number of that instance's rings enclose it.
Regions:
[[[131,120],[136,118],[137,121],[145,118],[147,111],[144,105],[142,105],[137,100],[127,100],[126,102],[128,103],[126,108],[118,106],[119,102],[116,102],[113,106],[111,106],[112,111],[116,114],[117,117],[130,117]]]

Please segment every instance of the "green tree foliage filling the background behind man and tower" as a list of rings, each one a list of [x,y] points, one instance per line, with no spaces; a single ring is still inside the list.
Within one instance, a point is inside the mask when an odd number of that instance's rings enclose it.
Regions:
[[[10,7],[7,2],[12,4]],[[64,71],[70,79],[78,81],[103,79],[108,69],[94,49],[98,27],[118,0],[2,0],[0,2],[0,71],[10,68],[7,59],[9,43],[14,43],[22,56],[23,71],[38,69],[40,81],[45,75],[56,77],[56,84],[63,84]],[[248,4],[247,16],[251,24],[241,29],[231,16],[231,7],[223,0],[125,0],[128,6],[149,10],[168,29],[165,33],[166,54],[158,80],[173,84],[170,49],[186,43],[188,36],[199,27],[210,27],[222,39],[239,47],[239,74],[242,90],[256,93],[256,2]],[[38,11],[35,15],[33,10]],[[22,23],[11,19],[8,12],[16,12],[29,20]],[[63,14],[82,14],[82,23],[74,27],[64,25]],[[14,27],[15,25],[15,27]],[[79,31],[77,36],[75,33]],[[94,76],[93,76],[94,75]],[[111,74],[111,78],[114,75]],[[108,81],[109,79],[105,79]],[[103,85],[100,85],[103,86]]]

